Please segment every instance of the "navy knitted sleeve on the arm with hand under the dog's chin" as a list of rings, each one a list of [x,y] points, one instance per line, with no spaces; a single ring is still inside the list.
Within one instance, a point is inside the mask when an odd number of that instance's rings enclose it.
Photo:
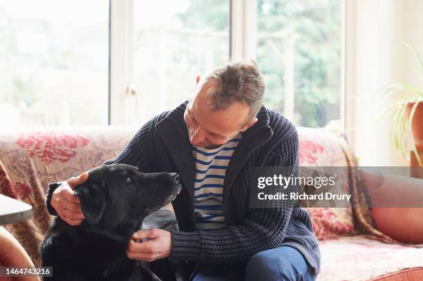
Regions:
[[[263,166],[292,167],[298,173],[297,132],[278,144]],[[289,202],[289,200],[287,200]],[[245,261],[252,255],[279,246],[285,237],[292,205],[251,209],[243,224],[214,231],[173,231],[171,260],[200,262]]]

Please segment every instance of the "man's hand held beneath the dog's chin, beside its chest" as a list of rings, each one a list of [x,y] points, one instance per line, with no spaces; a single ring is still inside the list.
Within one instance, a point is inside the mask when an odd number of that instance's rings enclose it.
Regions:
[[[134,240],[148,239],[146,242]],[[172,246],[171,233],[162,229],[147,229],[133,233],[126,249],[126,256],[132,260],[153,262],[170,255]]]

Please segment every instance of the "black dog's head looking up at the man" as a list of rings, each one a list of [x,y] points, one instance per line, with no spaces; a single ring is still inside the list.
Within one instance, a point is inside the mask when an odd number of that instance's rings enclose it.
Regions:
[[[141,173],[134,166],[111,164],[88,171],[88,180],[75,188],[75,195],[86,228],[107,235],[169,204],[180,189],[177,173]]]

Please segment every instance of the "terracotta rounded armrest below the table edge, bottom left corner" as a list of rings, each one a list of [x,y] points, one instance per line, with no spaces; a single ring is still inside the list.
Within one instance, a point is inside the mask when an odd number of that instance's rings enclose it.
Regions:
[[[0,264],[3,267],[34,267],[32,260],[21,244],[6,229],[0,226]],[[3,279],[2,279],[3,280]],[[38,277],[19,277],[10,280],[34,281]]]

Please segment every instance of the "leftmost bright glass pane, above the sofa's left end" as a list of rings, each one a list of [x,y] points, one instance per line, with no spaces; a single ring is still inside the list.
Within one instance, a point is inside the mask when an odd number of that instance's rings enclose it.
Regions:
[[[102,125],[109,1],[0,0],[0,127]]]

